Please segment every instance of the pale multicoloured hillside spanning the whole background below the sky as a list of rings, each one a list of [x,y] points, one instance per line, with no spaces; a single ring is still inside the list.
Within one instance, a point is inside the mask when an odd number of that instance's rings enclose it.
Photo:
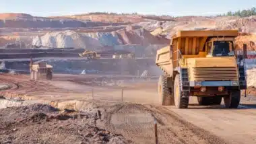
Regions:
[[[59,17],[33,17],[24,13],[0,14],[0,46],[20,36],[28,45],[88,48],[127,44],[168,44],[179,30],[232,30],[236,38],[255,50],[256,16],[170,17],[156,15],[87,13]],[[13,34],[15,32],[15,35]],[[69,41],[69,42],[67,42]]]

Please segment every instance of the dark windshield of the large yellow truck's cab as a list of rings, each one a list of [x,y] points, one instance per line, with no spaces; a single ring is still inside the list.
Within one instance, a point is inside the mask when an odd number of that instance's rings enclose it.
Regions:
[[[234,55],[233,42],[230,41],[216,41],[214,42],[214,49],[212,51],[213,57],[225,57]]]

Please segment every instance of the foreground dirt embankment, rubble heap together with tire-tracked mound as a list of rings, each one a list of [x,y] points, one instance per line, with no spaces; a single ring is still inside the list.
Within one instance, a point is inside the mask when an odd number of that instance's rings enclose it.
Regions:
[[[163,108],[141,104],[98,104],[86,111],[59,111],[32,104],[0,110],[1,143],[224,143]]]

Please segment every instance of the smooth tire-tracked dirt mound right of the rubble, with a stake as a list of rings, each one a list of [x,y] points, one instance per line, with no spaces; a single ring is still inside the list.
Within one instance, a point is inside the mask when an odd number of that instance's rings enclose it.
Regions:
[[[160,143],[225,143],[161,106],[118,104],[106,114],[106,128],[134,143],[154,143],[154,118]]]

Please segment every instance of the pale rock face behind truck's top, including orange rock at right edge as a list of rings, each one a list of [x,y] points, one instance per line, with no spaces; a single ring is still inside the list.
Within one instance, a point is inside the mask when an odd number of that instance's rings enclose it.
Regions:
[[[185,17],[174,19],[175,21],[141,22],[138,25],[152,31],[154,36],[166,36],[169,38],[179,30],[239,30],[245,33],[236,38],[236,45],[242,48],[247,44],[249,50],[256,50],[256,16],[251,17]],[[160,28],[162,26],[162,28]]]

